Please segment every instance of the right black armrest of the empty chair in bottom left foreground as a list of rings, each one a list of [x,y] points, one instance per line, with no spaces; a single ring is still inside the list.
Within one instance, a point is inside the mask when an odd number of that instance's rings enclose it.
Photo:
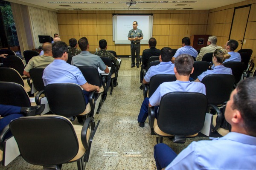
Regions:
[[[89,139],[87,139],[87,132],[88,132],[89,127],[91,127],[90,128],[90,137],[89,137]],[[81,141],[86,150],[89,149],[90,139],[93,137],[94,129],[95,129],[95,122],[94,122],[93,118],[88,117],[87,119],[85,119],[84,125],[82,127],[82,131],[81,131]]]

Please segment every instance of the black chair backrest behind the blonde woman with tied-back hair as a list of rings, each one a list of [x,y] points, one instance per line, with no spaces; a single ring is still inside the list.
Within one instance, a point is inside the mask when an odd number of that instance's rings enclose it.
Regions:
[[[209,74],[201,82],[205,85],[209,104],[221,105],[229,100],[235,77],[231,74]]]

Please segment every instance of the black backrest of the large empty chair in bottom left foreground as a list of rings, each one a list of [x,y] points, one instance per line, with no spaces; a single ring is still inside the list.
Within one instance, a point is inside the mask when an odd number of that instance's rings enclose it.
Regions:
[[[63,164],[79,150],[73,125],[62,116],[21,117],[10,123],[10,130],[21,156],[30,164]]]

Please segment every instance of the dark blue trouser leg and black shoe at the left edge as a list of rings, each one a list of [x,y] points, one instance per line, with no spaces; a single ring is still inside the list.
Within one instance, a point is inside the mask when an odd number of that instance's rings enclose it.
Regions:
[[[12,105],[0,105],[0,133],[6,125],[8,125],[13,119],[17,119],[23,116],[35,116],[41,114],[44,111],[45,105],[37,105],[31,107],[19,107]],[[11,136],[11,132],[8,132],[5,136],[7,139]]]

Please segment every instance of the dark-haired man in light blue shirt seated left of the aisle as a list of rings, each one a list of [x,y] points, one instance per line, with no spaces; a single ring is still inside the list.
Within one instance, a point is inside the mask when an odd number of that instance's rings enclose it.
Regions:
[[[44,69],[44,85],[54,83],[74,83],[84,89],[84,98],[86,104],[89,102],[89,92],[96,90],[99,92],[99,86],[89,84],[79,68],[67,63],[68,53],[67,44],[63,41],[52,44],[52,55],[54,61]]]

